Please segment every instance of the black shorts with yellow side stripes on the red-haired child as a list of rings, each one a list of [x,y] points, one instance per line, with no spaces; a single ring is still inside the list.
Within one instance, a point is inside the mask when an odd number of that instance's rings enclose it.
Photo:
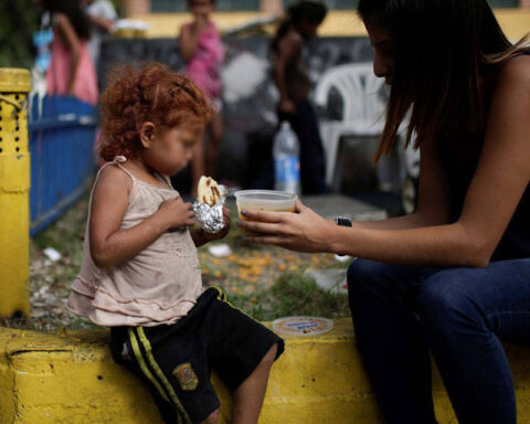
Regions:
[[[173,325],[110,329],[114,360],[148,383],[171,424],[201,423],[220,406],[211,369],[234,391],[275,343],[278,358],[284,341],[232,306],[219,287],[208,288]]]

